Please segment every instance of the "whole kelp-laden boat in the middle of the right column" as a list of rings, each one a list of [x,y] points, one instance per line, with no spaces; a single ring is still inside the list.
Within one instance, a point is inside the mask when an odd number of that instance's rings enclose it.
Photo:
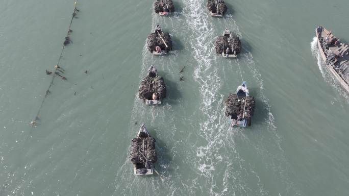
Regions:
[[[241,42],[238,36],[226,29],[221,36],[216,39],[216,54],[223,57],[236,57],[241,52]]]

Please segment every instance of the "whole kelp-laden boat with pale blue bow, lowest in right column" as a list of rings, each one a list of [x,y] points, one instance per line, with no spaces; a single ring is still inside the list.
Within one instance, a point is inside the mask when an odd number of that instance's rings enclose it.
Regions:
[[[255,98],[248,94],[246,82],[238,86],[235,94],[229,94],[226,104],[226,116],[230,117],[230,126],[251,126],[255,111]]]

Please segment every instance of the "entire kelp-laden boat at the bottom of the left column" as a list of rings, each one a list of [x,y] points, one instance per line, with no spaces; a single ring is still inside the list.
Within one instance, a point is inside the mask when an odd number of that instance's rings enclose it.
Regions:
[[[141,125],[136,138],[131,140],[131,162],[136,176],[152,175],[157,161],[155,154],[155,139]]]

